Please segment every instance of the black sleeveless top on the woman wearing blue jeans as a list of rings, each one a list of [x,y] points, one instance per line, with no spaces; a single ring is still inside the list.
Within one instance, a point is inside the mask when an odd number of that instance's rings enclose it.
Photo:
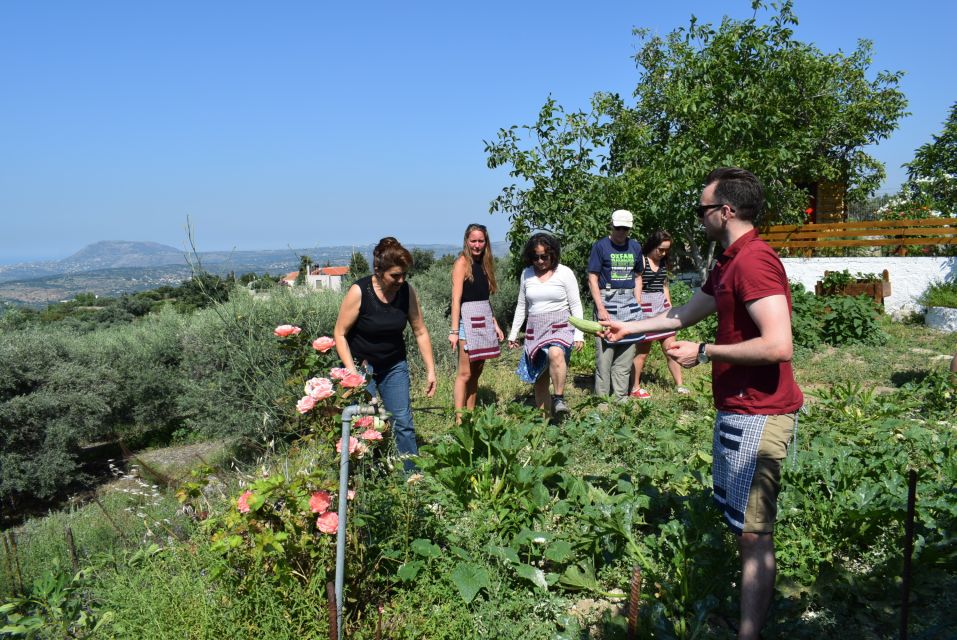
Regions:
[[[405,360],[405,326],[409,322],[409,284],[403,282],[395,299],[386,304],[372,288],[372,276],[355,282],[362,292],[359,317],[346,334],[349,350],[358,365],[367,360],[375,369]]]

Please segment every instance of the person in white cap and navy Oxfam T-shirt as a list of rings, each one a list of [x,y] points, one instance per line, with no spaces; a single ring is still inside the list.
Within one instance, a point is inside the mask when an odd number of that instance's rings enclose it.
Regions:
[[[611,233],[598,240],[588,258],[588,290],[597,320],[641,319],[641,245],[630,238],[634,217],[618,209],[611,214]],[[614,344],[595,338],[595,394],[614,394],[620,399],[631,390],[629,377],[635,343],[642,335],[628,336]]]

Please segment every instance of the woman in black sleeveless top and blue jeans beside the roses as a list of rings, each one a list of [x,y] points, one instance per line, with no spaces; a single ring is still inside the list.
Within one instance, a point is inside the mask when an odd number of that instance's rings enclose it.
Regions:
[[[405,326],[412,333],[425,361],[425,394],[435,395],[435,362],[432,342],[422,320],[415,290],[405,281],[412,254],[395,238],[383,238],[373,251],[373,274],[356,281],[346,292],[333,337],[343,366],[370,377],[368,390],[382,397],[392,414],[395,444],[400,455],[416,455],[415,425],[409,400],[409,365],[405,359]],[[356,365],[356,361],[360,364]],[[406,460],[405,469],[414,465]]]

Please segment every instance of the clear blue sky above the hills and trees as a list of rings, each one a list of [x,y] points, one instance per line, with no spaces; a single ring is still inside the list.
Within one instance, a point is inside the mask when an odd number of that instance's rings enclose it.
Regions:
[[[720,5],[721,8],[714,8]],[[872,152],[900,165],[957,100],[957,5],[797,0],[825,52],[874,41],[912,115]],[[504,239],[509,183],[483,140],[549,94],[630,96],[633,27],[666,34],[750,2],[0,3],[0,261],[97,240],[279,249]]]

